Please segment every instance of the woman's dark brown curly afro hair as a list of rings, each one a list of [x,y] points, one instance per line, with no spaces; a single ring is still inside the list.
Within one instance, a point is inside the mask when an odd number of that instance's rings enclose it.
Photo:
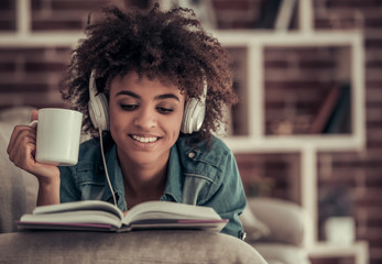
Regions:
[[[203,95],[203,73],[208,82],[206,117],[199,139],[218,131],[225,106],[237,102],[228,52],[206,33],[193,10],[166,12],[159,4],[149,11],[103,9],[85,30],[73,52],[61,92],[73,109],[84,113],[84,131],[96,135],[89,118],[89,76],[96,70],[99,92],[109,95],[110,82],[130,72],[150,79],[165,78],[186,98]]]

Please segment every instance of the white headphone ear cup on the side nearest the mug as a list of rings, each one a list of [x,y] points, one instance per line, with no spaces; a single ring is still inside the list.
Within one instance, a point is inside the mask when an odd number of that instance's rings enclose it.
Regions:
[[[102,131],[109,130],[109,107],[105,94],[98,94],[89,101],[89,116],[92,125]]]

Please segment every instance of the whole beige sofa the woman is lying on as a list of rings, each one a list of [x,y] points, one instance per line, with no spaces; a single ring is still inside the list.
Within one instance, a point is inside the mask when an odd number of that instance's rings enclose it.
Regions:
[[[14,125],[30,122],[31,110],[0,111],[0,263],[308,263],[303,210],[271,198],[248,199],[245,242],[196,230],[18,232],[15,221],[35,207],[37,182],[9,161],[7,146]],[[277,213],[290,228],[275,221]]]

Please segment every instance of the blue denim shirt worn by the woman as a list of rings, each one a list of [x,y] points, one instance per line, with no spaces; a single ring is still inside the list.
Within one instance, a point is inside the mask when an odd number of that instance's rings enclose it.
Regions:
[[[114,143],[106,150],[106,163],[117,206],[125,211],[123,176]],[[222,232],[242,239],[239,215],[245,207],[245,195],[236,160],[222,141],[214,136],[209,145],[204,142],[193,147],[181,136],[171,148],[167,166],[161,200],[211,207],[222,219],[229,219]],[[77,165],[59,170],[62,202],[90,199],[112,202],[98,139],[80,145]]]

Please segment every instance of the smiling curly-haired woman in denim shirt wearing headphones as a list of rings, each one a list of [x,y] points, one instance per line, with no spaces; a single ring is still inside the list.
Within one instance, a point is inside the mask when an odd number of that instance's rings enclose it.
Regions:
[[[237,100],[227,52],[190,10],[159,6],[107,9],[86,34],[62,88],[94,136],[80,145],[78,164],[35,162],[30,127],[17,127],[9,144],[10,160],[39,179],[37,206],[84,199],[114,201],[123,211],[159,199],[208,206],[229,219],[222,232],[242,238],[240,175],[211,134]]]

